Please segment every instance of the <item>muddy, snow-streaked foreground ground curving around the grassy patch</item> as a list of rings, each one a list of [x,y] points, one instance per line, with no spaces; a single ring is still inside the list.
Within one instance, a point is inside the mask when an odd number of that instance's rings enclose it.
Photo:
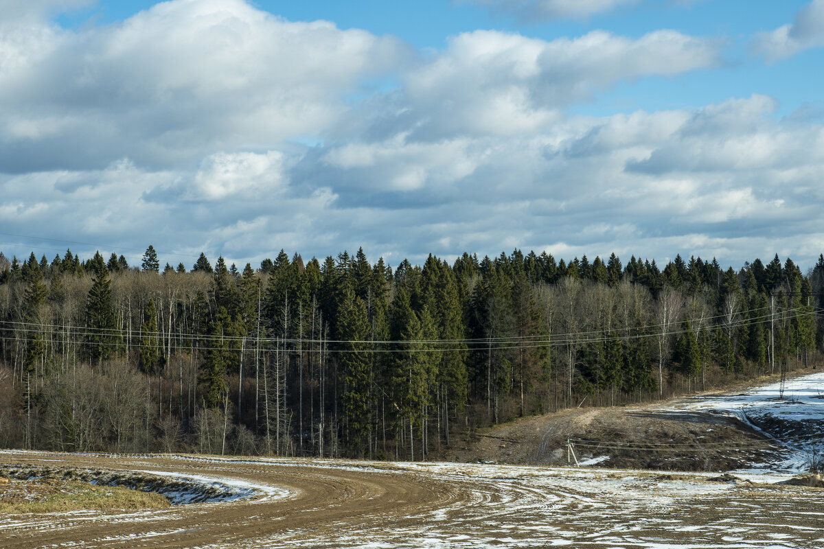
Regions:
[[[824,547],[824,490],[700,474],[26,452],[0,453],[0,463],[168,472],[269,491],[151,512],[0,515],[8,549]]]

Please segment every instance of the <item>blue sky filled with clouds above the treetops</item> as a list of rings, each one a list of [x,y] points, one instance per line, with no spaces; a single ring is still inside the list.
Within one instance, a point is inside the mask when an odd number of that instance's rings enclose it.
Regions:
[[[0,0],[0,251],[824,252],[824,0]]]

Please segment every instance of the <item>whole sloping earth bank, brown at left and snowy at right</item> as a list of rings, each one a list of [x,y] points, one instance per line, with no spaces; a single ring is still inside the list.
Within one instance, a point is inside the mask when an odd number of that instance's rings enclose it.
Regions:
[[[783,386],[782,386],[783,385]],[[575,408],[456,439],[462,463],[801,472],[824,455],[824,372],[643,405]],[[568,441],[572,443],[569,448]]]

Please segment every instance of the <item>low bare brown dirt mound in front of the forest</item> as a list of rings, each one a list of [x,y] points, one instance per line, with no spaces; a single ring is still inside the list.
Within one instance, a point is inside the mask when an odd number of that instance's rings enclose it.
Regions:
[[[660,406],[660,404],[658,405]],[[730,416],[646,408],[588,408],[480,430],[439,456],[450,461],[728,471],[783,450]]]

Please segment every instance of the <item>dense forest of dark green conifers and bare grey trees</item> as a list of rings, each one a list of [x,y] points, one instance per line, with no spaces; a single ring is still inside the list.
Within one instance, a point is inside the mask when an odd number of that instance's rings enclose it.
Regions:
[[[0,447],[420,460],[516,416],[814,365],[822,300],[824,256],[0,254]]]

